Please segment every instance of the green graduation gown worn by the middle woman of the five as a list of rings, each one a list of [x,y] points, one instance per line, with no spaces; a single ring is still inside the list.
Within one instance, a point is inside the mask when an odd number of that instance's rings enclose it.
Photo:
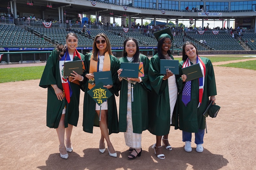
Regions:
[[[128,63],[126,57],[119,59],[120,63]],[[148,129],[148,91],[151,92],[151,86],[148,81],[148,66],[149,59],[145,55],[140,54],[140,62],[143,62],[144,77],[141,77],[142,82],[133,85],[132,102],[132,128],[133,133],[142,133]],[[122,74],[121,74],[122,75]],[[128,81],[120,82],[120,102],[119,102],[119,131],[126,132],[127,128],[127,96],[128,96]]]

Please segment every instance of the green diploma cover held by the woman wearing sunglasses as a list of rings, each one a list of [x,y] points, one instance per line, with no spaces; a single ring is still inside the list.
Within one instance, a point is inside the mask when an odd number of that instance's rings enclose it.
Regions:
[[[95,84],[113,85],[111,71],[94,72]]]

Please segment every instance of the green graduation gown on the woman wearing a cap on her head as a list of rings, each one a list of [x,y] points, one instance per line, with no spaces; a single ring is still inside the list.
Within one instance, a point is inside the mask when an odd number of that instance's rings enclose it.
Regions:
[[[173,59],[172,55],[169,55]],[[148,94],[148,130],[156,136],[169,134],[170,126],[175,126],[175,129],[179,129],[177,100],[173,109],[171,122],[168,79],[163,80],[163,77],[164,75],[160,74],[160,59],[158,54],[156,54],[150,59],[148,70],[148,78],[152,86],[152,92]]]

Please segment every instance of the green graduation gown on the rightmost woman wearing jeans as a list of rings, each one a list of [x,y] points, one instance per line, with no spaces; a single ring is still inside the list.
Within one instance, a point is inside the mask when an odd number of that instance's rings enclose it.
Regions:
[[[186,132],[197,133],[198,129],[205,129],[205,116],[203,116],[204,111],[207,108],[209,101],[209,96],[217,95],[215,76],[213,71],[213,66],[211,61],[208,58],[200,57],[205,64],[205,77],[204,77],[204,92],[202,98],[202,104],[198,107],[199,103],[199,82],[198,79],[191,80],[191,100],[188,103],[187,107],[182,102],[182,87],[185,83],[179,84],[179,126],[180,130]],[[185,61],[181,61],[179,64],[180,77],[182,73],[182,65]],[[192,65],[193,63],[190,62]],[[198,107],[198,108],[197,108]]]

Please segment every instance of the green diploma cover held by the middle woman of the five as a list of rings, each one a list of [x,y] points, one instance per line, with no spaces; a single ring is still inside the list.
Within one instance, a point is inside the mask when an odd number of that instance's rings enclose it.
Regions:
[[[121,63],[120,68],[123,69],[120,77],[138,78],[140,63]]]

